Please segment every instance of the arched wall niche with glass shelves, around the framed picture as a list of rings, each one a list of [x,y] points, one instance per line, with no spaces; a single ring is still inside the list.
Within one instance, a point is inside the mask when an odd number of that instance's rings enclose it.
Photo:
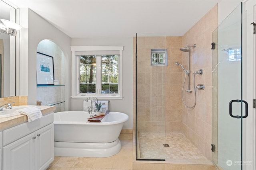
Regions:
[[[37,85],[37,100],[42,105],[56,106],[56,112],[65,110],[65,56],[61,48],[52,40],[44,39],[38,43],[37,52],[53,57],[54,80],[58,84]],[[40,74],[38,74],[40,76]],[[37,77],[38,78],[38,77]]]

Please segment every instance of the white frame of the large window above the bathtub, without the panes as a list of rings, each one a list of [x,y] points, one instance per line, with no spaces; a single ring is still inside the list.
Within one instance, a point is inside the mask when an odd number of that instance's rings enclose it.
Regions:
[[[72,99],[86,99],[89,97],[96,97],[98,99],[122,99],[123,98],[123,49],[124,46],[72,46],[71,47],[71,98]],[[102,94],[101,76],[96,77],[96,93],[80,93],[80,57],[76,56],[79,51],[119,51],[118,59],[118,94]],[[98,59],[99,60],[99,59]],[[97,62],[96,57],[96,70],[100,71],[101,75],[101,61]],[[98,84],[98,86],[97,86]]]

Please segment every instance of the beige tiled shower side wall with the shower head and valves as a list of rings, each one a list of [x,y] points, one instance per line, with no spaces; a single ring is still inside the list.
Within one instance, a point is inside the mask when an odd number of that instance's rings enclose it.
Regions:
[[[182,133],[202,153],[211,159],[212,143],[212,32],[218,26],[218,6],[214,6],[183,37],[182,47],[196,43],[191,49],[190,70],[203,69],[203,75],[196,75],[195,85],[204,84],[205,90],[196,91],[196,106],[188,109],[182,106]],[[187,66],[188,53],[182,52],[182,64]],[[183,75],[184,78],[184,75]],[[193,90],[193,74],[190,76],[190,88]],[[194,103],[193,93],[184,93],[188,106]]]

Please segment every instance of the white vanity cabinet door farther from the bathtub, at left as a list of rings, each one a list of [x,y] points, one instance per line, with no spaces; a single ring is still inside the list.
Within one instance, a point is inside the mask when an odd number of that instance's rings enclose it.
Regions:
[[[35,169],[35,137],[27,135],[2,148],[3,170],[34,170]]]

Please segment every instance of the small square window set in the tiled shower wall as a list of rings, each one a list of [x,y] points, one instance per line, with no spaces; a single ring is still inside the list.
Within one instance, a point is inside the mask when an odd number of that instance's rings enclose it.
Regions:
[[[167,49],[151,49],[151,66],[167,66]]]

